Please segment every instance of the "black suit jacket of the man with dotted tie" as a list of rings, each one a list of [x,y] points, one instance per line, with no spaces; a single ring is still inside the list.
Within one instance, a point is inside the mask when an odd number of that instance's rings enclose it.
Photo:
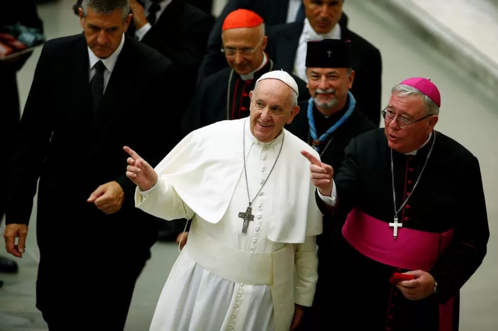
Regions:
[[[152,166],[174,146],[176,137],[168,133],[177,125],[168,119],[169,108],[161,109],[150,97],[174,100],[168,79],[173,74],[170,60],[125,36],[101,109],[93,114],[84,35],[44,45],[12,158],[7,223],[28,223],[40,178],[37,239],[45,259],[65,249],[74,253],[79,243],[88,247],[92,224],[112,233],[106,245],[119,247],[120,254],[148,254],[157,222],[135,208],[136,185],[125,175],[123,146]],[[110,181],[121,185],[124,203],[119,212],[105,215],[86,200]]]

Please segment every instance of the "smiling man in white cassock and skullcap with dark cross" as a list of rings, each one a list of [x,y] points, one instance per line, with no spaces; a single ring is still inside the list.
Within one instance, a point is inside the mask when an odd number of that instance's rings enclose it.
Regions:
[[[299,112],[284,71],[256,82],[248,118],[187,135],[152,169],[125,147],[141,210],[192,219],[150,330],[288,331],[311,306],[322,231],[309,161],[286,131]]]

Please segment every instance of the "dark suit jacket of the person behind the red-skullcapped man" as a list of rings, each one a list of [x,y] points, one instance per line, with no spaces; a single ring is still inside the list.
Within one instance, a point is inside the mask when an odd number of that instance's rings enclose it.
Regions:
[[[226,68],[225,57],[221,53],[221,27],[229,13],[239,8],[252,10],[261,16],[265,27],[281,25],[287,22],[287,12],[289,11],[289,0],[228,0],[220,16],[216,19],[213,30],[209,34],[207,51],[199,68],[197,81],[212,75],[223,68]],[[348,17],[342,13],[339,24],[343,27],[348,25]]]

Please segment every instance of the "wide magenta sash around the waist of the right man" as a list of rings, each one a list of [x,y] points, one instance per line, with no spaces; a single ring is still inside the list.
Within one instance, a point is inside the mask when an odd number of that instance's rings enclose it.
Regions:
[[[451,243],[453,230],[431,233],[399,227],[394,239],[393,229],[388,223],[355,208],[342,227],[342,235],[356,251],[374,261],[429,272]],[[439,331],[453,330],[453,305],[454,298],[439,305]]]

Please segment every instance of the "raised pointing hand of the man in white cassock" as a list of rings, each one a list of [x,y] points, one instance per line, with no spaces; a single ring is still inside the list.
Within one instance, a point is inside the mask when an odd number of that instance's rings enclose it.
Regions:
[[[131,179],[142,191],[153,188],[158,180],[154,168],[129,147],[125,146],[123,149],[131,156],[127,160],[126,177]]]

